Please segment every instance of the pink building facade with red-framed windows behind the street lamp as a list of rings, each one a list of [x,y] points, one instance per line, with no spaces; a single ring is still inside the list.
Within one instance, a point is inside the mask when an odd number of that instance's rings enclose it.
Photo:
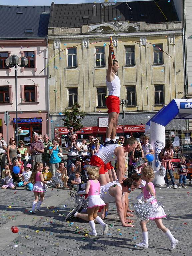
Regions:
[[[6,141],[5,111],[10,115],[8,138],[15,133],[15,69],[5,64],[5,59],[12,54],[28,58],[27,67],[17,67],[18,127],[22,130],[19,139],[28,146],[35,132],[49,133],[47,40],[0,40],[0,132]]]

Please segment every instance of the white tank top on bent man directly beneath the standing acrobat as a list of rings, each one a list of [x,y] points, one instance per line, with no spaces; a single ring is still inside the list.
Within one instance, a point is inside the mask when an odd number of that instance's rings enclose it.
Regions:
[[[109,163],[111,161],[117,160],[117,156],[114,153],[114,150],[117,147],[123,147],[123,146],[119,144],[107,145],[106,147],[101,148],[99,152],[95,153],[95,155],[101,158],[101,160],[103,160],[105,164]]]

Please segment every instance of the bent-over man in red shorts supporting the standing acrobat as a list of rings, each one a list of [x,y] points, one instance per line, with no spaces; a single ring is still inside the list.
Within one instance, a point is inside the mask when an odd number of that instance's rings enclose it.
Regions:
[[[123,171],[125,165],[125,152],[131,152],[136,148],[135,139],[129,138],[125,139],[123,145],[112,144],[104,148],[101,148],[98,153],[95,153],[91,157],[91,165],[98,166],[99,169],[99,182],[102,185],[107,184],[105,172],[107,172],[106,164],[112,160],[117,160],[118,169],[117,169],[117,178],[122,181]]]

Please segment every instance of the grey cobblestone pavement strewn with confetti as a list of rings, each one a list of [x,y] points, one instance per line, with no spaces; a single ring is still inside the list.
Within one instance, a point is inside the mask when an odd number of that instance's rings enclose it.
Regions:
[[[159,230],[154,221],[148,224],[149,248],[137,248],[136,242],[142,241],[139,220],[134,228],[122,227],[116,205],[109,205],[106,218],[109,227],[107,235],[96,224],[97,237],[85,237],[84,230],[90,231],[88,223],[73,219],[72,225],[64,222],[64,216],[73,208],[74,202],[69,190],[49,188],[41,212],[32,215],[33,193],[23,188],[1,190],[0,206],[0,255],[51,256],[51,255],[187,255],[192,256],[192,187],[187,189],[166,189],[156,187],[158,201],[164,206],[167,219],[163,223],[179,240],[178,246],[169,251],[170,241]],[[140,193],[136,189],[130,194],[130,208],[133,209],[135,197]],[[11,232],[11,226],[17,226],[19,232]],[[76,232],[80,231],[80,234]],[[15,247],[17,246],[17,247]]]

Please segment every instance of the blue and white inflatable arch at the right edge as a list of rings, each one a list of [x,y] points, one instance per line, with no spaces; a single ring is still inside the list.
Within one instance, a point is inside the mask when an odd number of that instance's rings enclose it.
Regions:
[[[167,106],[159,110],[145,125],[145,134],[150,135],[150,143],[155,154],[152,167],[156,173],[161,165],[158,154],[165,145],[165,126],[172,119],[192,118],[192,99],[173,99]],[[163,186],[164,177],[155,174],[154,185]]]

